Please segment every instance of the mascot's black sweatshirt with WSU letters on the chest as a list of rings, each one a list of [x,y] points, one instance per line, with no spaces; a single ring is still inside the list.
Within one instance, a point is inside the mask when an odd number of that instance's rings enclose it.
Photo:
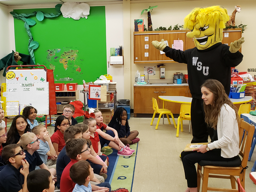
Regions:
[[[236,67],[243,60],[243,54],[231,53],[229,46],[217,43],[205,50],[196,47],[185,51],[166,46],[165,55],[179,63],[188,64],[188,83],[192,98],[201,99],[200,86],[207,79],[220,81],[226,93],[230,92],[231,67]]]

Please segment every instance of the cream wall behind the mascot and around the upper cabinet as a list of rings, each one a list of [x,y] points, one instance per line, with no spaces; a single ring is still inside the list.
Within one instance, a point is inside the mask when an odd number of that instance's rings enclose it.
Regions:
[[[254,64],[253,55],[255,55],[255,44],[256,39],[254,38],[254,34],[256,31],[256,26],[252,24],[252,18],[256,18],[256,1],[185,1],[185,2],[165,2],[165,3],[133,3],[131,4],[131,90],[133,90],[134,84],[134,75],[137,70],[140,72],[144,71],[144,66],[148,66],[149,64],[134,64],[133,63],[133,29],[134,29],[134,19],[144,19],[144,24],[147,26],[147,13],[144,13],[140,16],[140,13],[143,9],[146,9],[150,6],[158,5],[151,12],[151,19],[153,23],[153,29],[157,27],[170,27],[172,28],[174,25],[178,24],[182,25],[184,22],[184,18],[189,12],[195,7],[209,7],[213,5],[220,5],[223,6],[228,10],[228,14],[231,15],[232,12],[235,10],[235,5],[241,6],[241,12],[236,13],[236,25],[241,24],[248,25],[245,27],[245,31],[243,33],[245,42],[242,45],[242,53],[244,55],[244,59],[240,65],[236,68],[239,71],[247,71],[247,68],[256,68]],[[154,40],[149,40],[149,43]],[[157,64],[152,64],[152,66],[156,66]],[[182,72],[187,74],[187,65],[180,64],[180,63],[165,63],[166,66],[165,78],[173,78],[173,73],[175,72]],[[256,72],[251,72],[251,75],[256,75]],[[150,79],[159,79],[159,68],[156,70],[156,76],[150,76]],[[145,78],[147,79],[147,77]],[[131,105],[133,108],[133,92],[131,92],[132,100]]]

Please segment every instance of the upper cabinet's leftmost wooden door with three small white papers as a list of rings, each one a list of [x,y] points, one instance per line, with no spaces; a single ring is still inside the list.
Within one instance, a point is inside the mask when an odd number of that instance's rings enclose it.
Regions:
[[[145,41],[145,37],[148,37],[148,41]],[[134,34],[134,63],[158,61],[159,51],[151,43],[158,39],[158,34]],[[148,45],[148,49],[145,49],[145,45]],[[148,57],[145,57],[145,53],[148,53]]]

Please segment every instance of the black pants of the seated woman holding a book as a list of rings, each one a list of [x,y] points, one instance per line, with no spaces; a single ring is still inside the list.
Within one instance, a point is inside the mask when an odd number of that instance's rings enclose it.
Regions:
[[[197,151],[182,151],[181,160],[184,167],[185,178],[189,188],[197,187],[197,172],[195,164],[201,160],[205,161],[233,161],[237,157],[224,158],[220,156],[221,149],[213,149],[206,153]]]

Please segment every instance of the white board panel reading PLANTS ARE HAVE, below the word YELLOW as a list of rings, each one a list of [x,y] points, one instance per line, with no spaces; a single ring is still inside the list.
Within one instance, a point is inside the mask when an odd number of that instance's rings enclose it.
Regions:
[[[19,101],[20,115],[26,106],[36,108],[37,115],[49,115],[49,83],[7,83],[6,101]]]

